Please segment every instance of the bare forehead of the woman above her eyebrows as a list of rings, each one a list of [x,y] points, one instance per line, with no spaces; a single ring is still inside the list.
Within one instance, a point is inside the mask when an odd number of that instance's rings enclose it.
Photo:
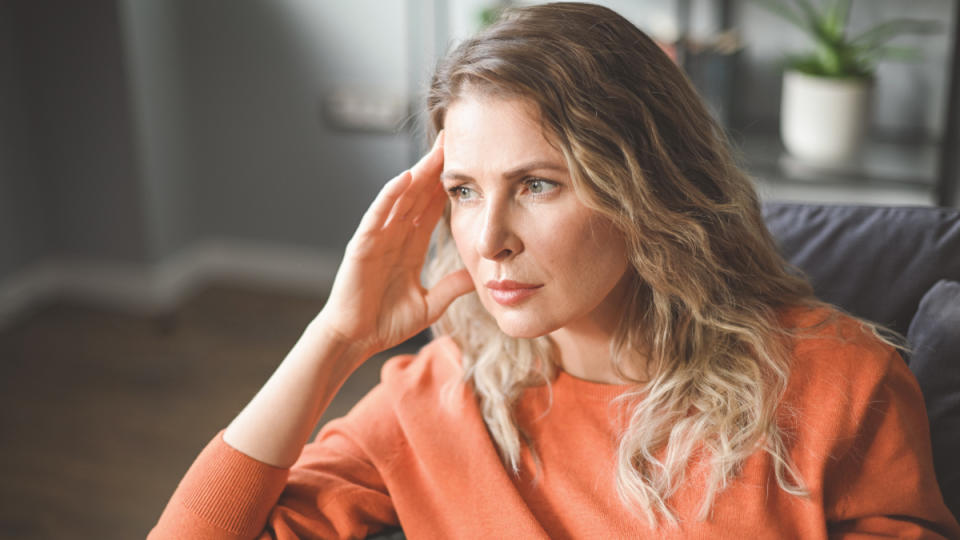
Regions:
[[[532,102],[467,95],[447,109],[444,169],[502,171],[534,159],[565,163],[546,139]]]

